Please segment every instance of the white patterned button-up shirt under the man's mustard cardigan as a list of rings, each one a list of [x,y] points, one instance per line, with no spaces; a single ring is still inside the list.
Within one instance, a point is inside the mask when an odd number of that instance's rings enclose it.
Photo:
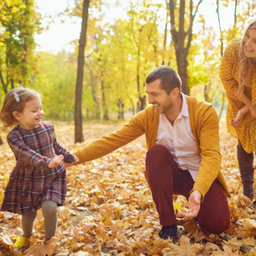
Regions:
[[[160,114],[156,144],[166,146],[178,167],[182,170],[189,170],[195,181],[201,163],[201,155],[190,128],[190,114],[184,94],[182,94],[182,110],[178,114],[174,126],[168,121],[166,114]]]

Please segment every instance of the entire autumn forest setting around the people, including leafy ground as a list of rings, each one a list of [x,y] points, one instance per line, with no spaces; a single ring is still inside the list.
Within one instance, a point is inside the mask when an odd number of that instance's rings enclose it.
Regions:
[[[255,6],[254,0],[0,1],[0,108],[12,88],[37,90],[45,120],[54,122],[58,141],[70,152],[143,110],[146,75],[160,65],[177,70],[182,91],[213,103],[222,118],[222,174],[231,194],[225,234],[206,234],[192,218],[177,218],[178,234],[186,236],[178,245],[159,240],[158,214],[144,176],[145,140],[138,138],[67,170],[67,206],[58,207],[57,238],[46,246],[48,255],[56,239],[62,256],[256,255],[256,211],[242,195],[218,75],[223,50],[255,18]],[[0,130],[0,136],[1,206],[15,158],[6,132]],[[174,209],[186,211],[186,198],[175,197]],[[18,214],[0,212],[0,255],[21,255],[20,222]],[[45,255],[40,211],[34,229],[26,255]]]

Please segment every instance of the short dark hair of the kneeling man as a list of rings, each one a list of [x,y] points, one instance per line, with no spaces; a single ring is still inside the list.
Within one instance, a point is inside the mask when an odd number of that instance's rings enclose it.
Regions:
[[[158,66],[146,77],[146,84],[157,79],[161,80],[160,88],[165,90],[167,95],[176,87],[181,92],[182,80],[178,73],[170,66]]]

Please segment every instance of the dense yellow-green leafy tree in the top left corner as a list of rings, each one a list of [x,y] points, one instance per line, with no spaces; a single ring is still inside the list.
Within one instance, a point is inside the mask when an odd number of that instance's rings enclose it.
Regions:
[[[0,79],[5,93],[15,83],[31,82],[36,62],[34,35],[42,31],[34,0],[0,2]]]

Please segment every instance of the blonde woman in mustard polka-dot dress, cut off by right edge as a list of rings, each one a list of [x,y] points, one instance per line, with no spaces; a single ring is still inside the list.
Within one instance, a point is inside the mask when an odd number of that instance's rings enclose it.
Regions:
[[[226,126],[238,138],[238,165],[243,194],[254,199],[254,152],[256,151],[256,20],[242,38],[226,47],[220,65],[220,78],[226,90],[228,106]]]

